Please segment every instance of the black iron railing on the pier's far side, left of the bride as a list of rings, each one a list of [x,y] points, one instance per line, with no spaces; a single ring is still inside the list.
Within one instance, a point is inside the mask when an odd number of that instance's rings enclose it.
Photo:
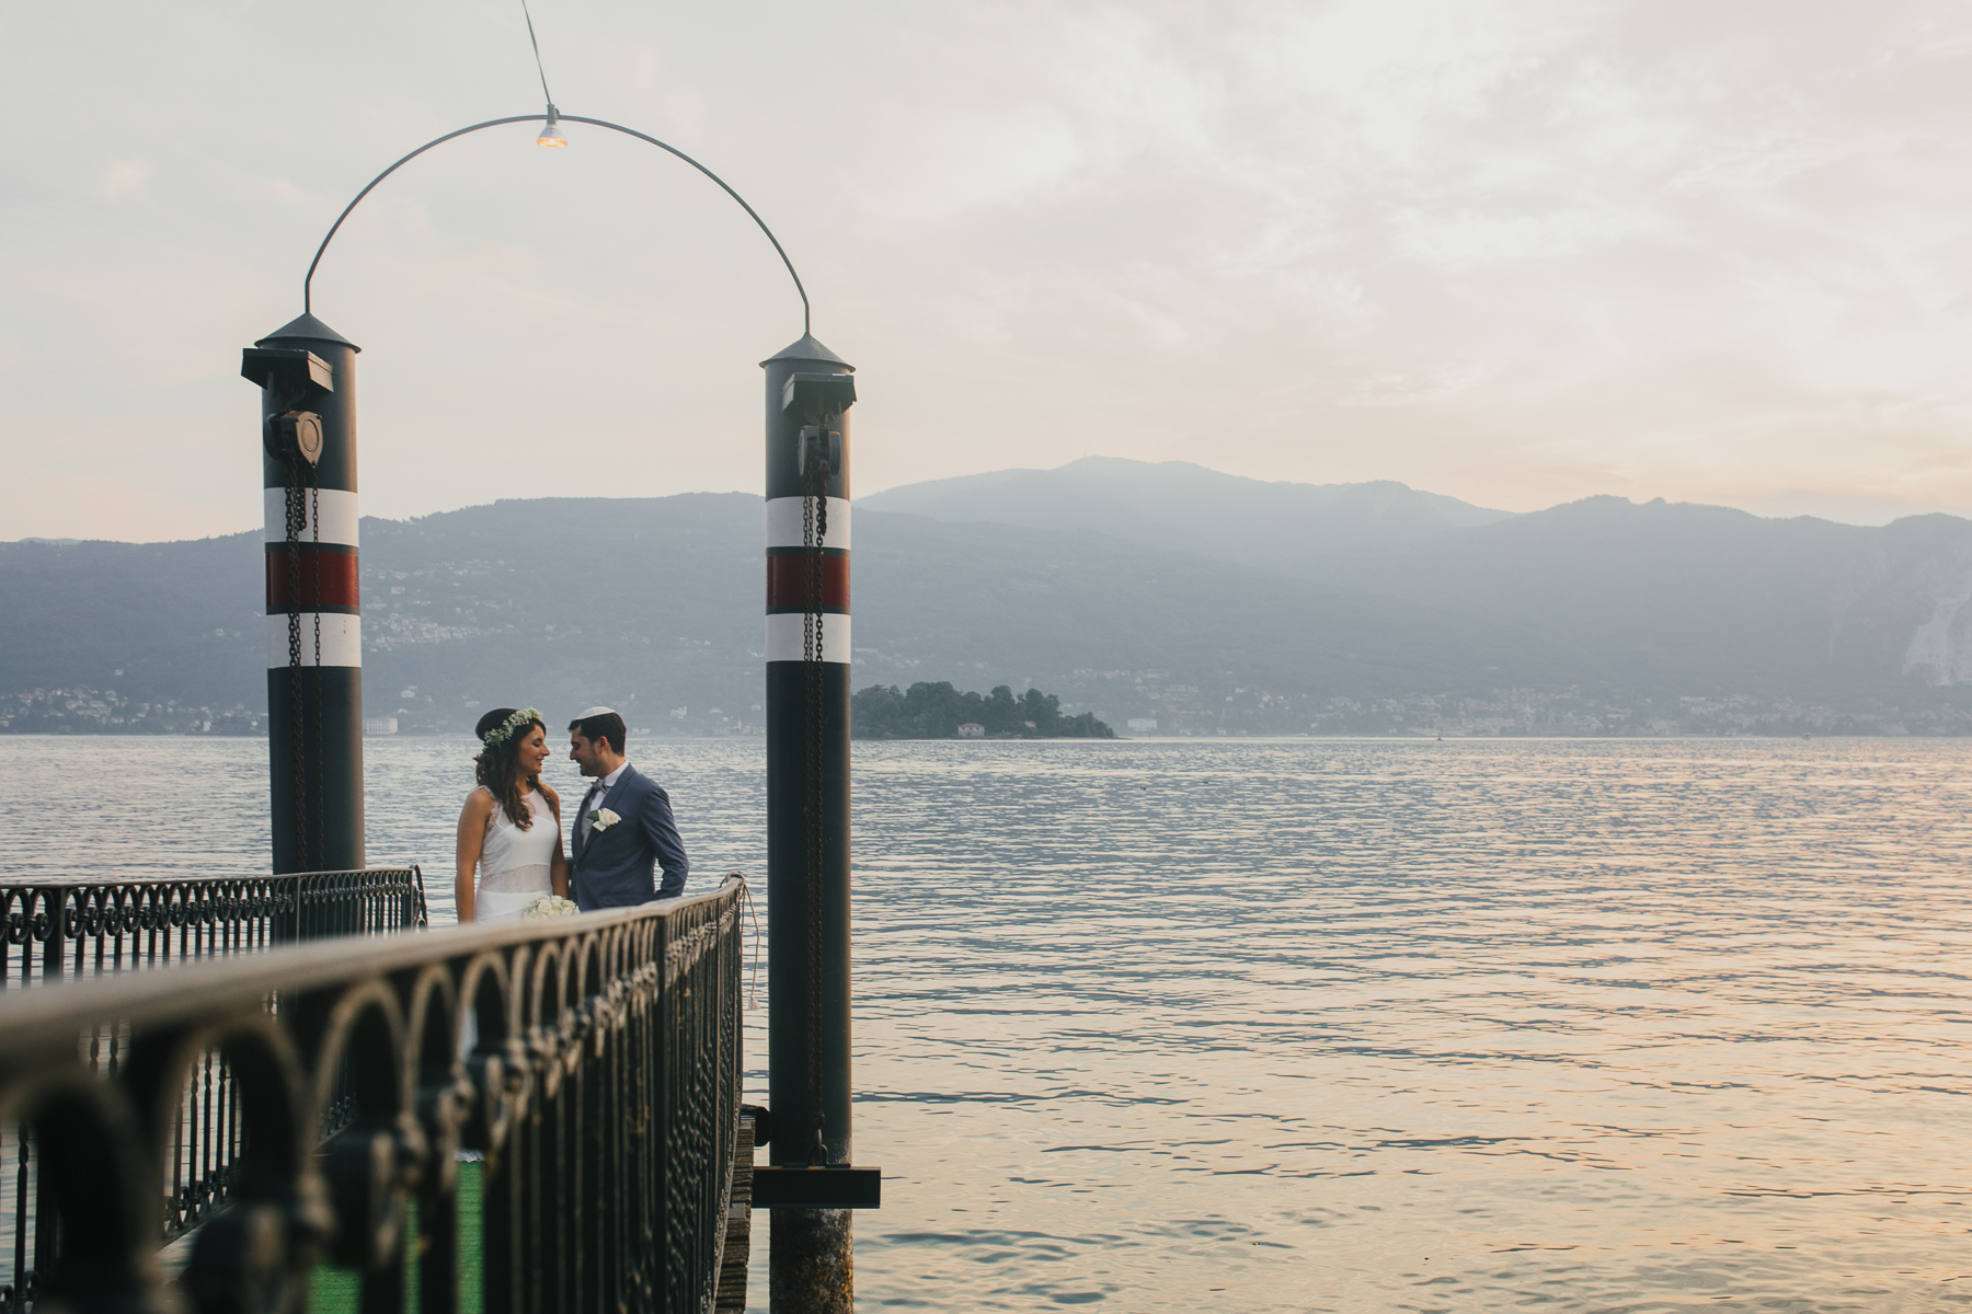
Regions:
[[[424,924],[418,867],[0,885],[0,989]]]

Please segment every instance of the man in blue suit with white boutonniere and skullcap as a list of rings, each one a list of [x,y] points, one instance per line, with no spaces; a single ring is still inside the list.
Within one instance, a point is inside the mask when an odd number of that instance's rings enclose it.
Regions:
[[[584,912],[676,898],[692,865],[670,820],[670,796],[623,756],[623,717],[590,707],[568,723],[568,756],[590,792],[576,812],[570,885]],[[657,885],[653,867],[665,869]]]

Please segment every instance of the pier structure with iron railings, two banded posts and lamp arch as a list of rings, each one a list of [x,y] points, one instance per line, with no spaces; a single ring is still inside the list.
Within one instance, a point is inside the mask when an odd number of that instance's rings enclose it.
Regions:
[[[743,881],[408,936],[420,871],[365,867],[361,349],[316,317],[314,278],[400,167],[534,122],[540,146],[584,124],[696,169],[801,299],[801,337],[759,362],[779,1119],[740,1105]],[[753,1206],[773,1210],[773,1308],[848,1314],[852,1210],[881,1198],[852,1152],[856,378],[814,339],[779,238],[698,160],[548,99],[377,173],[316,248],[302,313],[243,349],[241,374],[260,390],[272,875],[0,887],[0,985],[18,987],[0,1015],[0,1314],[743,1308]]]

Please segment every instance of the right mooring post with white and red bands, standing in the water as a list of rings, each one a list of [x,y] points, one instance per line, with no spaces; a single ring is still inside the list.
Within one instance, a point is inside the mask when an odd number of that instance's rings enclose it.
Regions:
[[[810,335],[767,370],[769,1164],[850,1162],[850,426]],[[852,1314],[850,1210],[775,1208],[773,1314]]]

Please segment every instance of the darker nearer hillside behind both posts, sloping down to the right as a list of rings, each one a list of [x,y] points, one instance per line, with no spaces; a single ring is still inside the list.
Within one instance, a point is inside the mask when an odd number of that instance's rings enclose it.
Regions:
[[[609,701],[657,731],[757,725],[759,542],[749,494],[365,520],[365,711],[461,729],[503,701]],[[81,684],[124,701],[262,707],[258,554],[256,536],[0,546],[0,607],[16,621],[0,630],[0,693]],[[164,581],[170,605],[138,605]],[[1140,678],[1191,688],[1215,721],[1232,690],[1266,690],[1268,725],[1337,693],[1451,688],[1475,658],[1518,682],[1556,678],[1546,654],[1522,662],[1491,623],[1096,534],[1008,536],[862,508],[854,644],[858,688],[1039,684],[1063,691],[1063,713],[1100,719],[1112,719],[1102,697]]]

